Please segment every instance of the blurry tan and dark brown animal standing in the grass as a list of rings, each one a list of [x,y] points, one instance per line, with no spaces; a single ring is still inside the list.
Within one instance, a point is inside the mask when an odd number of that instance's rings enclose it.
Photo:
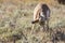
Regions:
[[[43,28],[49,29],[50,9],[46,3],[39,3],[34,10],[34,20],[31,24],[39,23]],[[32,26],[34,28],[34,26]]]

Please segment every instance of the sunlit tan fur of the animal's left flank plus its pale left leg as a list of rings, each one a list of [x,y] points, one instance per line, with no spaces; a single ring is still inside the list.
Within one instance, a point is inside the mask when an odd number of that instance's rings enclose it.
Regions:
[[[34,22],[35,22],[35,20],[39,20],[39,13],[40,13],[41,10],[42,10],[42,9],[41,9],[41,5],[42,5],[42,4],[43,4],[43,3],[39,3],[39,4],[36,5],[35,10],[34,10]],[[34,30],[35,26],[36,26],[36,24],[32,25],[32,28],[31,28],[32,30]],[[31,33],[34,32],[32,30],[31,30]]]

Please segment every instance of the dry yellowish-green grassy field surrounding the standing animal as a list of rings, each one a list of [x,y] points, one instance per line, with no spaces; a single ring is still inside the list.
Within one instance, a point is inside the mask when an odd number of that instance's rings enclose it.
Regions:
[[[41,31],[37,24],[30,34],[32,11],[42,1],[50,3],[50,31]],[[0,43],[14,40],[16,43],[65,43],[65,5],[47,0],[0,0]]]

